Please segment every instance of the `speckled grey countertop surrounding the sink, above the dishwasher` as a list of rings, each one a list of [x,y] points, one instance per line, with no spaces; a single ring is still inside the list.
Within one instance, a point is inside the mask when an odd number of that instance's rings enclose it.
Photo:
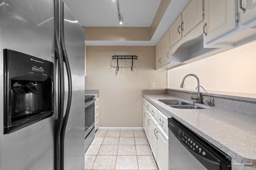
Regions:
[[[143,96],[167,117],[176,118],[232,159],[248,160],[252,164],[247,166],[256,166],[256,116],[202,104],[195,105],[206,109],[176,109],[158,99],[182,100],[191,104],[192,100],[167,94]]]

